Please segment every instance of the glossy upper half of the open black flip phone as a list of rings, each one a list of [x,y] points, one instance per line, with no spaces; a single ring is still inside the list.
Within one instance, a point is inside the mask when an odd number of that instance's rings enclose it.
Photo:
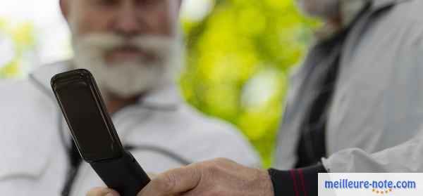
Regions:
[[[123,146],[88,70],[56,74],[51,88],[82,159],[102,162],[122,157]]]

